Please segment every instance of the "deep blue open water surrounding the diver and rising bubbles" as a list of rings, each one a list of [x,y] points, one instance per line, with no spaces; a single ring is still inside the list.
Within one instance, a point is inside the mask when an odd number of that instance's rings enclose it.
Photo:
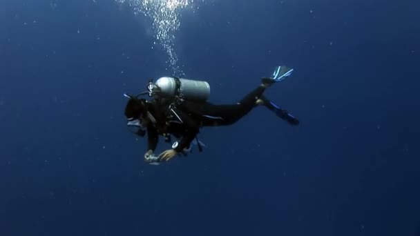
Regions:
[[[175,32],[185,77],[233,103],[291,66],[266,94],[301,125],[256,108],[147,165],[122,94],[173,73],[150,19],[1,1],[0,235],[420,235],[419,1],[196,3]]]

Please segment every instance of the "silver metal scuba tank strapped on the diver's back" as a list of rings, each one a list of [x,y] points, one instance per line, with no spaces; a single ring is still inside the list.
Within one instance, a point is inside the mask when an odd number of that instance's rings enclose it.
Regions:
[[[155,97],[176,97],[191,101],[206,101],[210,96],[210,85],[206,81],[161,77],[154,84]]]

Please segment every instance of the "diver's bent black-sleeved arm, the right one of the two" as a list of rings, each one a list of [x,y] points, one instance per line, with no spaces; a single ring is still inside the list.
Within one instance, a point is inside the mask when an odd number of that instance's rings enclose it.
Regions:
[[[182,124],[184,124],[185,127],[184,135],[182,135],[181,140],[178,142],[178,146],[173,148],[173,150],[175,150],[177,153],[180,153],[182,152],[182,150],[184,150],[184,148],[188,148],[190,146],[191,141],[195,139],[198,132],[200,131],[200,128],[197,122],[191,119],[189,115],[185,114],[180,110],[175,110],[175,112],[181,119]]]

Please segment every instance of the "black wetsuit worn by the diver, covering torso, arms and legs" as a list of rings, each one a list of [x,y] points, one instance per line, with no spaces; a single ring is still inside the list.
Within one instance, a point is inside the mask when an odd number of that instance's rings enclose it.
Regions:
[[[149,107],[156,123],[147,127],[149,150],[155,150],[158,135],[171,134],[181,137],[174,149],[178,152],[188,148],[203,126],[229,126],[247,115],[262,96],[265,88],[249,92],[238,104],[214,105],[208,102],[184,101],[175,108],[168,104],[152,103]]]

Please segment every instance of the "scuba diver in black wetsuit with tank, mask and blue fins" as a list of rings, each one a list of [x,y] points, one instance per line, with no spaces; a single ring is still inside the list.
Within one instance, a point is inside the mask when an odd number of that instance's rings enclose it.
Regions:
[[[147,132],[148,149],[144,160],[149,164],[160,164],[161,161],[169,161],[179,154],[187,155],[193,144],[196,144],[201,152],[204,144],[197,137],[200,128],[230,126],[256,106],[265,106],[281,119],[296,126],[299,124],[296,117],[263,95],[266,88],[283,81],[292,75],[292,72],[291,68],[278,66],[272,77],[262,78],[260,86],[249,92],[237,104],[227,105],[215,105],[207,101],[210,86],[206,81],[162,77],[155,83],[150,81],[146,92],[135,96],[124,94],[128,97],[124,112],[128,119],[127,126],[137,128],[134,133],[141,137]],[[153,99],[140,98],[147,94]],[[178,141],[173,143],[171,149],[155,155],[160,135],[166,142],[171,142],[171,136]]]

